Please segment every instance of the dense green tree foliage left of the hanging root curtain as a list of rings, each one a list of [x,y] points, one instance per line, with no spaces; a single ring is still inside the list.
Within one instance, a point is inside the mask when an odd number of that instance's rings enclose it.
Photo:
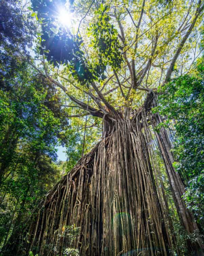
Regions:
[[[67,126],[52,84],[5,50],[0,57],[1,245],[23,229],[59,179],[55,146]]]

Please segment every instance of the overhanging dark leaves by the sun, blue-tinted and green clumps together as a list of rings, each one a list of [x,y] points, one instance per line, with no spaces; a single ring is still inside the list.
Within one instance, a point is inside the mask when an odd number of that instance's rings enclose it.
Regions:
[[[101,4],[96,11],[98,21],[89,28],[89,35],[94,37],[92,44],[95,49],[99,49],[99,60],[92,64],[85,59],[80,47],[82,39],[78,35],[74,37],[69,31],[57,25],[56,10],[62,4],[50,0],[32,1],[33,11],[38,12],[38,18],[42,21],[40,53],[45,54],[48,61],[55,66],[60,63],[68,64],[72,75],[81,84],[104,80],[106,66],[110,65],[117,69],[122,61],[118,32],[113,24],[109,23],[107,6]]]

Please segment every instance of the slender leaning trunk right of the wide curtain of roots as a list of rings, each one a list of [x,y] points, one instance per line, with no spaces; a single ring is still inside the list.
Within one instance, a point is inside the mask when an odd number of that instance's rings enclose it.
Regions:
[[[153,104],[156,106],[155,102]],[[154,115],[154,120],[154,127],[163,122],[162,118],[158,114]],[[175,172],[173,167],[174,159],[171,153],[171,142],[169,141],[167,131],[162,127],[160,128],[159,132],[155,131],[155,135],[164,160],[176,209],[183,227],[188,234],[192,234],[193,232],[196,232],[197,234],[197,242],[187,240],[188,250],[189,252],[193,252],[194,255],[204,255],[204,240],[199,236],[199,226],[195,221],[193,214],[186,208],[185,202],[182,198],[185,193],[185,186],[180,174]]]

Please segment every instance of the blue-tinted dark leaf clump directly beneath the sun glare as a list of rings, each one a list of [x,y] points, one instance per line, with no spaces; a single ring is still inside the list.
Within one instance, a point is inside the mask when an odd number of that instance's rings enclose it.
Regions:
[[[57,10],[64,4],[65,1],[32,1],[33,11],[38,13],[38,18],[42,22],[40,54],[45,54],[48,61],[55,66],[69,63],[72,74],[82,83],[86,83],[87,80],[91,80],[92,75],[80,49],[82,40],[80,37],[74,38],[57,23]]]

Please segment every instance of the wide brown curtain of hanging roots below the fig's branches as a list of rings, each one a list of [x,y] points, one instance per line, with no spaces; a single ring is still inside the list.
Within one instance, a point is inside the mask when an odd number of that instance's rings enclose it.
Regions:
[[[145,115],[141,111],[141,115]],[[144,116],[147,120],[147,117]],[[170,255],[171,237],[147,122],[118,120],[40,203],[27,251],[80,256]]]

